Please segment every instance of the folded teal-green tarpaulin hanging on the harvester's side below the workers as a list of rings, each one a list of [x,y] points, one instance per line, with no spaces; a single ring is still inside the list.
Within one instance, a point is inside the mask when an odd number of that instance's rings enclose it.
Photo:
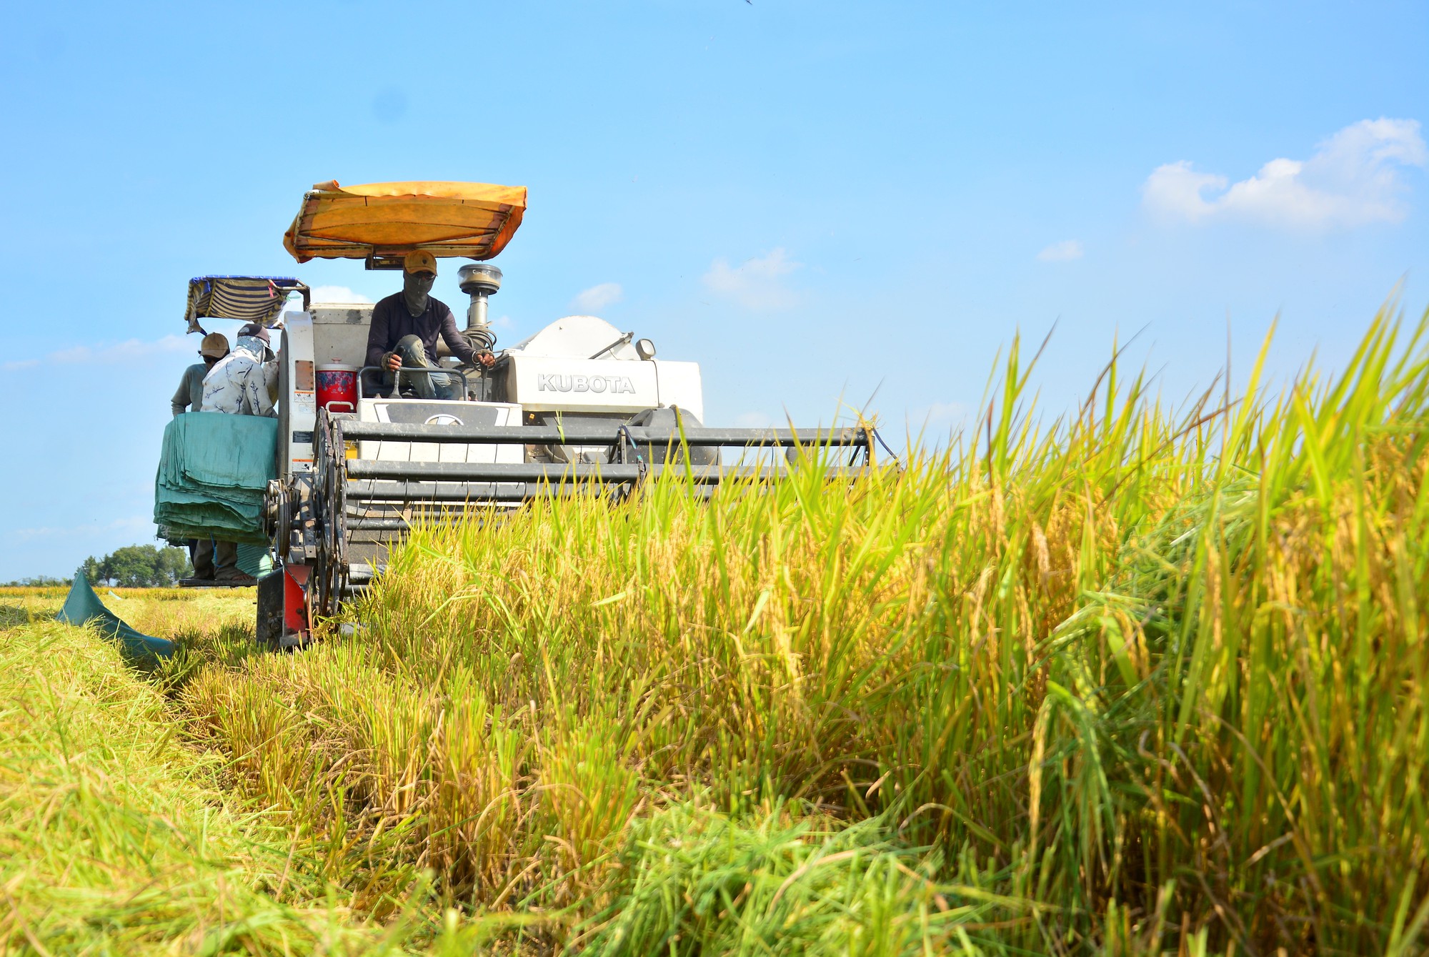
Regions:
[[[277,477],[277,420],[191,411],[164,427],[154,523],[170,538],[267,544],[263,490]]]

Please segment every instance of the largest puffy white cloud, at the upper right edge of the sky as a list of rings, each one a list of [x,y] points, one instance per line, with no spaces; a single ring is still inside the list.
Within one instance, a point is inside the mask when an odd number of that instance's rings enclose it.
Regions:
[[[1299,230],[1398,223],[1405,217],[1405,167],[1429,166],[1418,120],[1360,120],[1320,143],[1308,160],[1270,160],[1230,183],[1190,161],[1157,167],[1142,203],[1165,220],[1235,219]],[[1208,197],[1209,196],[1209,197]]]

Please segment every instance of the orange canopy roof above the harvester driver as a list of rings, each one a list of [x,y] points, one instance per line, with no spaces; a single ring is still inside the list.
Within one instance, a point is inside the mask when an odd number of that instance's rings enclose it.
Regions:
[[[310,259],[392,260],[433,256],[492,259],[512,241],[526,211],[524,186],[490,183],[317,183],[303,197],[283,246]]]

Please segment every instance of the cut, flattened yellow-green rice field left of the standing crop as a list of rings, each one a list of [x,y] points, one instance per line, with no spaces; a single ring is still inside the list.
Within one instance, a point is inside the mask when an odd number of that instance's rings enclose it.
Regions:
[[[0,590],[0,953],[440,953],[440,928],[353,913],[310,848],[230,793],[226,756],[186,743],[153,681],[94,633],[47,620],[63,594]],[[106,597],[153,618],[233,613],[252,590]]]

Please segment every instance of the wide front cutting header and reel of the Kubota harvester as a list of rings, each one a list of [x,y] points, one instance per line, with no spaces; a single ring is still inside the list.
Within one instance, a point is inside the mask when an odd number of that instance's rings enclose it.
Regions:
[[[677,409],[629,423],[547,426],[377,423],[320,411],[314,433],[313,471],[269,486],[282,574],[259,584],[259,640],[276,647],[306,643],[312,624],[366,587],[413,524],[499,520],[544,496],[619,498],[672,471],[710,494],[736,478],[777,480],[800,454],[835,463],[846,451],[845,463],[825,466],[836,480],[867,466],[877,439],[872,427],[683,427]],[[529,460],[530,450],[552,447],[597,449],[600,460]],[[723,461],[725,449],[739,451],[735,464]]]

